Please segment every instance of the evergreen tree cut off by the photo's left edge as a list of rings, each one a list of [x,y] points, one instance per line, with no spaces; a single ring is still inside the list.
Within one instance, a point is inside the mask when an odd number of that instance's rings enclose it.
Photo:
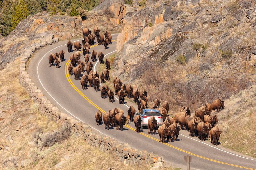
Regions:
[[[11,5],[11,0],[4,0],[2,3],[2,11],[0,15],[0,33],[2,36],[7,36],[7,34],[12,31]]]

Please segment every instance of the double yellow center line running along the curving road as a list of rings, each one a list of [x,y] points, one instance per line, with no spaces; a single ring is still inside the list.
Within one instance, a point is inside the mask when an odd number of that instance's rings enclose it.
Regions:
[[[116,40],[112,40],[112,41],[116,41]],[[93,47],[95,47],[95,46],[97,46],[97,45],[92,45],[91,48],[93,48]],[[97,104],[93,103],[90,99],[88,99],[88,97],[85,96],[85,95],[74,85],[74,83],[71,81],[70,75],[68,74],[68,65],[70,64],[70,62],[71,62],[71,61],[68,60],[68,62],[67,62],[66,65],[65,65],[65,74],[66,74],[66,78],[67,78],[68,82],[70,83],[70,85],[71,85],[71,86],[75,89],[75,91],[77,91],[86,101],[88,101],[88,102],[89,102],[90,104],[92,104],[95,108],[97,108],[98,110],[100,110],[102,113],[106,113],[102,108],[100,108],[99,106],[97,106]],[[125,124],[124,126],[127,127],[127,128],[129,128],[129,129],[131,129],[131,130],[133,130],[133,131],[135,131],[134,128],[132,128],[131,126],[129,126],[129,125],[127,125],[127,124]],[[141,134],[141,135],[143,135],[143,136],[145,136],[145,137],[147,137],[147,138],[150,138],[150,139],[152,139],[152,140],[154,140],[154,141],[156,141],[156,142],[159,142],[159,139],[153,138],[152,136],[150,136],[150,135],[148,135],[148,134],[145,134],[145,133],[142,133],[142,132],[139,133],[139,134]],[[176,150],[178,150],[178,151],[184,152],[184,153],[186,153],[186,154],[190,154],[190,155],[196,156],[196,157],[198,157],[198,158],[202,158],[202,159],[209,160],[209,161],[212,161],[212,162],[216,162],[216,163],[219,163],[219,164],[229,165],[229,166],[233,166],[233,167],[237,167],[237,168],[244,168],[244,169],[255,170],[255,169],[253,169],[253,168],[247,168],[247,167],[243,167],[243,166],[239,166],[239,165],[229,164],[229,163],[225,163],[225,162],[213,160],[213,159],[210,159],[210,158],[206,158],[206,157],[203,157],[203,156],[200,156],[200,155],[196,155],[196,154],[193,154],[193,153],[191,153],[191,152],[189,152],[189,151],[185,151],[185,150],[183,150],[183,149],[181,149],[181,148],[175,147],[175,146],[173,146],[173,145],[171,145],[171,144],[169,144],[169,143],[162,143],[162,144],[164,144],[164,145],[166,145],[166,146],[168,146],[168,147],[172,147],[173,149],[176,149]]]

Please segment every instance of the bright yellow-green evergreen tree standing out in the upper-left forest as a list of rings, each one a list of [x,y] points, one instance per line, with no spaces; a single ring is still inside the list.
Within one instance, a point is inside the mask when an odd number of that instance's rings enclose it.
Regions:
[[[29,16],[29,10],[23,0],[14,7],[14,13],[12,15],[12,28],[14,29],[18,23]]]

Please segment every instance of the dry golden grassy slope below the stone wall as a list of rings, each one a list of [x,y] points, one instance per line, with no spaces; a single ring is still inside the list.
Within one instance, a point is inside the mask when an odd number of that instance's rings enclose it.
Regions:
[[[41,116],[38,104],[21,87],[18,80],[20,59],[0,70],[0,169],[150,169],[150,165],[126,166],[115,155],[91,147],[74,134],[53,146],[35,143],[37,132],[49,134],[60,130],[59,124]],[[99,161],[100,160],[100,161]],[[166,167],[164,169],[173,169]]]

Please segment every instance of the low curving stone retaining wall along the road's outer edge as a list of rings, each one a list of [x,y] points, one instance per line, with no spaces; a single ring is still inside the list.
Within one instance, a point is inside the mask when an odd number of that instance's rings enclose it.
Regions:
[[[74,119],[72,116],[61,112],[49,100],[47,100],[41,90],[34,85],[26,71],[26,62],[36,50],[53,43],[57,43],[58,41],[58,38],[54,38],[27,48],[23,53],[20,63],[20,84],[26,89],[26,91],[29,92],[29,95],[33,98],[33,100],[39,104],[40,114],[45,115],[51,120],[61,123],[62,125],[70,126],[74,133],[82,135],[85,141],[91,146],[95,146],[101,151],[111,151],[115,153],[119,157],[119,160],[124,164],[136,165],[149,163],[161,166],[163,157],[159,157],[154,153],[148,153],[145,150],[139,151],[137,149],[132,149],[127,144],[120,143],[114,139],[93,132],[88,124],[82,123]],[[45,60],[47,60],[47,58],[45,58]]]

